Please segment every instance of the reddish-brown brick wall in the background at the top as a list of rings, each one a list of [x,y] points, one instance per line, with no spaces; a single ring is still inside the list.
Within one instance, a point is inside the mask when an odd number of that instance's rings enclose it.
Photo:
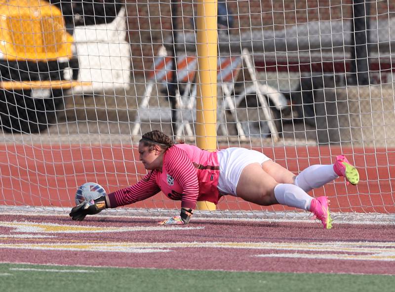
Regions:
[[[175,1],[175,0],[173,0]],[[169,0],[126,0],[128,36],[134,75],[151,68],[153,56],[169,38],[171,7]],[[390,4],[389,4],[390,2]],[[191,18],[197,14],[196,1],[179,0],[179,33],[191,33]],[[285,25],[307,21],[349,19],[353,0],[228,0],[234,14],[233,34],[252,30],[282,30]],[[388,19],[395,14],[395,1],[371,0],[370,15]]]

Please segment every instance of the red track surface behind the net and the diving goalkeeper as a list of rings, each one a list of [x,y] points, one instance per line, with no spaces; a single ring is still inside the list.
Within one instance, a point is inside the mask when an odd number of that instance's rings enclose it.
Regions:
[[[295,173],[314,164],[331,164],[343,153],[359,169],[359,184],[346,187],[339,178],[315,190],[314,195],[329,196],[332,211],[395,213],[395,149],[305,146],[256,150]],[[0,144],[0,205],[72,206],[77,187],[87,181],[98,182],[109,192],[134,184],[146,173],[136,161],[137,147],[131,145]],[[174,209],[177,205],[158,194],[133,207]],[[262,208],[228,196],[218,209]]]

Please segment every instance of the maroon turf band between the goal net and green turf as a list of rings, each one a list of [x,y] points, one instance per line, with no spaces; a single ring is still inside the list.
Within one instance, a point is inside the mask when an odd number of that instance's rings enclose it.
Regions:
[[[82,222],[74,222],[68,216],[24,216],[0,214],[0,259],[2,262],[12,263],[37,263],[37,264],[62,264],[62,265],[94,265],[116,266],[135,268],[174,268],[174,269],[214,269],[237,271],[273,271],[273,272],[320,272],[320,273],[363,273],[363,274],[395,274],[395,226],[379,225],[349,225],[338,224],[331,230],[321,229],[320,224],[292,223],[292,222],[252,222],[252,221],[199,221],[198,218],[188,226],[181,226],[181,230],[154,231],[124,231],[102,233],[40,233],[15,231],[15,227],[5,227],[9,222],[18,224],[55,223],[67,226],[96,226],[96,227],[158,227],[157,219],[150,218],[115,218],[90,217]],[[5,222],[5,223],[4,223]],[[30,223],[33,222],[33,223]],[[2,224],[2,225],[1,225]],[[174,225],[173,225],[174,226]],[[183,227],[200,229],[187,230]],[[64,228],[64,227],[62,227]],[[15,238],[15,235],[45,236],[50,238]],[[103,247],[109,243],[122,242],[129,247],[141,247],[141,243],[153,245],[163,243],[181,243],[177,247],[167,247],[167,252],[104,252],[86,250],[62,250],[67,244],[99,244]],[[204,247],[206,243],[221,245],[228,243],[228,247]],[[288,257],[258,257],[258,254],[278,253],[330,255],[335,257],[349,254],[371,255],[377,252],[363,250],[335,249],[331,251],[312,250],[280,250],[280,244],[288,246],[307,244],[317,245],[326,243],[324,247],[333,248],[331,242],[353,244],[368,242],[374,245],[387,245],[387,260],[361,260],[361,259],[322,259],[322,258],[296,258]],[[190,246],[190,243],[202,243],[202,247]],[[247,248],[239,248],[237,243],[244,243]],[[253,249],[254,243],[278,243],[269,249]],[[17,249],[18,244],[25,244],[22,249]],[[61,250],[48,250],[45,244],[56,244]],[[42,250],[34,249],[41,245]],[[251,245],[251,247],[248,247]],[[8,248],[4,248],[7,246]],[[115,249],[115,248],[114,248]],[[160,248],[159,248],[160,249]],[[361,250],[360,250],[361,251]],[[390,259],[390,260],[388,260]],[[391,260],[392,259],[392,260]]]

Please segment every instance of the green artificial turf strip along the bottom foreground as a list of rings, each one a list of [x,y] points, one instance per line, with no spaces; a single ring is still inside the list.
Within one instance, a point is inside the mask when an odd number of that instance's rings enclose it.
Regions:
[[[394,291],[393,275],[0,264],[1,292]]]

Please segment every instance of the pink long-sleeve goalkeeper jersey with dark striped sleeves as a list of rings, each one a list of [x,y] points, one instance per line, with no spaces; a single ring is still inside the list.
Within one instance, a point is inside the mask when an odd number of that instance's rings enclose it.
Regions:
[[[153,170],[139,182],[108,194],[109,207],[116,208],[145,200],[162,191],[182,208],[195,209],[197,201],[218,203],[219,163],[217,152],[194,145],[173,145],[163,155],[162,171]]]

